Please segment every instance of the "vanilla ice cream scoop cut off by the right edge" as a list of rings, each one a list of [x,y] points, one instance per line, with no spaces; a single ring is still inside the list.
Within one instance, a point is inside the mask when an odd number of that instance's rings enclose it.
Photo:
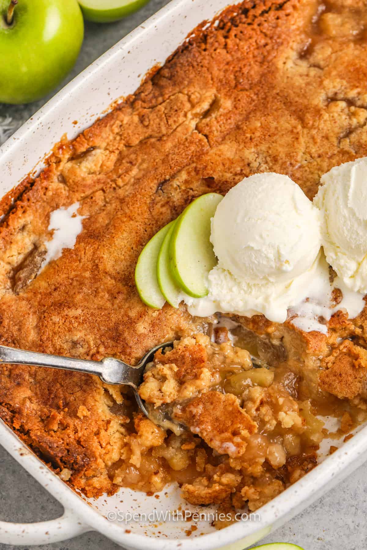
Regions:
[[[367,157],[332,168],[314,198],[325,256],[351,290],[367,293]]]

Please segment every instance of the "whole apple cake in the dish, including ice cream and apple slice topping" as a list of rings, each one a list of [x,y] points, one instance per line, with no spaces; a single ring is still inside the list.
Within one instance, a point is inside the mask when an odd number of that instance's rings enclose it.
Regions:
[[[317,464],[327,436],[320,415],[340,420],[332,437],[366,419],[367,169],[352,162],[367,155],[366,41],[365,0],[238,3],[1,201],[1,344],[134,364],[176,340],[156,354],[140,394],[186,430],[141,415],[127,387],[0,368],[1,418],[86,496],[176,481],[190,503],[255,510]],[[179,228],[190,228],[182,213],[194,216],[193,201],[208,195],[219,263],[203,249],[205,296],[177,243]],[[286,223],[267,224],[282,207]],[[253,240],[235,233],[238,220],[253,223],[248,212],[262,228]],[[153,308],[134,272],[162,228],[156,252],[171,230],[165,253],[180,290],[161,256],[167,303]],[[236,249],[234,234],[261,260]],[[249,353],[269,368],[254,368]]]

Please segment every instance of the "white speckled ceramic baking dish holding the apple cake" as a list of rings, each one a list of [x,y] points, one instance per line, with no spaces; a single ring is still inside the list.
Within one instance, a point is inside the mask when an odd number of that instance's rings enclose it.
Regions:
[[[100,59],[75,78],[35,114],[0,149],[0,195],[10,191],[24,175],[42,168],[42,158],[62,135],[74,138],[119,96],[134,92],[144,74],[165,59],[203,20],[215,24],[215,15],[228,0],[173,0],[156,15],[123,38]],[[207,23],[208,25],[210,23]],[[78,124],[74,124],[75,119]],[[32,524],[0,521],[0,542],[42,544],[58,542],[85,531],[96,530],[128,549],[242,550],[276,529],[307,505],[342,481],[367,457],[367,427],[331,456],[325,458],[330,442],[323,442],[321,464],[259,510],[256,518],[238,521],[215,531],[208,521],[196,522],[190,537],[185,533],[191,521],[152,520],[149,514],[175,510],[179,489],[172,485],[160,498],[120,489],[113,497],[85,499],[49,470],[15,434],[0,421],[0,442],[28,472],[64,507],[61,518]],[[332,444],[336,444],[335,441]],[[325,458],[325,460],[322,460]],[[185,510],[202,508],[184,503]],[[145,513],[140,521],[122,521],[121,513]],[[209,511],[205,509],[205,511]],[[119,514],[120,513],[120,514]]]

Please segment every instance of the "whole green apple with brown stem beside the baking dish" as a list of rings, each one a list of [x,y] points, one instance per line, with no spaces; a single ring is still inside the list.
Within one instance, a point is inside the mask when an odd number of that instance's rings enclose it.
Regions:
[[[73,67],[83,36],[76,0],[0,0],[0,102],[51,92]]]

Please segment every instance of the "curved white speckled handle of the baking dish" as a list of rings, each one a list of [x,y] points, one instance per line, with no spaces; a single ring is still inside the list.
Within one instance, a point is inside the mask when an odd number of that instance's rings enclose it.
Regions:
[[[18,546],[48,544],[73,538],[92,527],[83,524],[71,510],[64,510],[60,518],[35,523],[0,521],[0,542]]]

